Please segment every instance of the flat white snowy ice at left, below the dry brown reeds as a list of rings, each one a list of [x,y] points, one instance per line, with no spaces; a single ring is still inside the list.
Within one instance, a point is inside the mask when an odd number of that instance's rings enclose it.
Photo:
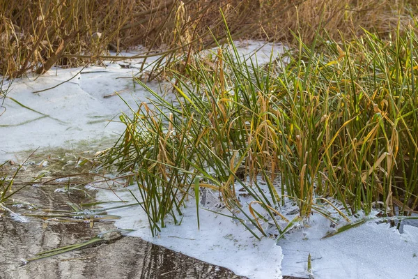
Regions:
[[[0,161],[15,160],[17,152],[38,147],[72,149],[80,141],[93,145],[115,138],[124,128],[116,116],[129,112],[115,91],[133,107],[137,107],[135,102],[148,102],[150,94],[141,86],[134,87],[131,69],[118,66],[91,67],[82,73],[80,70],[49,70],[38,78],[30,76],[13,82],[3,103],[7,110],[0,116]],[[55,89],[33,93],[75,75]],[[150,84],[150,87],[158,91],[156,85]],[[109,96],[111,94],[114,96]],[[111,119],[115,121],[109,123]]]

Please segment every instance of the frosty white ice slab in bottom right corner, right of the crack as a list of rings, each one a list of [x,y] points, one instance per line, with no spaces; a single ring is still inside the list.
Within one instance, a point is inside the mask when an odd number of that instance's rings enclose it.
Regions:
[[[284,274],[306,275],[310,253],[314,278],[418,278],[417,227],[405,225],[399,234],[388,224],[369,222],[322,239],[330,222],[314,216],[310,225],[279,242]]]

